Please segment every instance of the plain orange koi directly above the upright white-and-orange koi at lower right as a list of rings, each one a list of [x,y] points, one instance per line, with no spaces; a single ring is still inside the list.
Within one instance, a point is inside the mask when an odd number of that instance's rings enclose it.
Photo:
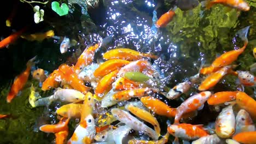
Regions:
[[[236,99],[236,92],[218,92],[214,93],[208,100],[207,103],[209,105],[219,105],[224,104],[227,101],[232,101]]]

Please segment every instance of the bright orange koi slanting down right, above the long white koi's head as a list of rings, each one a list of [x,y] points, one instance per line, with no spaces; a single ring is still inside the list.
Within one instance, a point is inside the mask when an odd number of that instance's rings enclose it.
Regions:
[[[78,78],[78,75],[74,73],[74,70],[66,64],[62,64],[59,67],[61,73],[63,73],[63,80],[66,81],[71,87],[82,93],[87,93],[90,87],[84,85],[84,81]]]

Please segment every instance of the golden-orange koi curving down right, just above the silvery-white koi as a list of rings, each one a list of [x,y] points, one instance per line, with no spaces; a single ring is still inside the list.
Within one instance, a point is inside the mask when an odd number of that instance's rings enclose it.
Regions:
[[[153,125],[155,132],[160,136],[161,128],[158,120],[146,110],[140,109],[132,104],[125,105],[125,109],[129,110],[133,115]]]

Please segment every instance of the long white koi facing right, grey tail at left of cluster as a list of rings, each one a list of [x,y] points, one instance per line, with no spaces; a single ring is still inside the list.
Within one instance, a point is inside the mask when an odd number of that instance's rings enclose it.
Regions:
[[[68,103],[77,103],[85,99],[85,95],[75,89],[59,88],[53,95],[40,98],[34,102],[35,106],[50,105],[55,100],[61,100]]]

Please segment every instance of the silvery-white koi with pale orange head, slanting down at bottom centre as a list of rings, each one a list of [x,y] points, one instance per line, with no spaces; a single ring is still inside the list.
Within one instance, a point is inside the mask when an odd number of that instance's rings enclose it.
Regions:
[[[133,117],[129,112],[114,108],[111,110],[111,113],[115,118],[118,119],[118,121],[125,123],[131,129],[136,131],[142,131],[153,140],[158,140],[159,135],[152,128],[149,128],[146,124],[139,121],[136,117]]]

